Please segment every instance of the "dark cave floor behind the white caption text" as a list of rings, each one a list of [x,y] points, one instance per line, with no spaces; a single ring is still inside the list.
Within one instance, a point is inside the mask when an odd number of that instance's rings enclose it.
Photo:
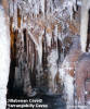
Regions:
[[[22,92],[15,90],[12,93],[12,95],[8,94],[7,96],[8,99],[8,109],[66,109],[66,104],[65,100],[63,99],[63,97],[61,95],[47,95],[44,93],[39,92],[36,96],[34,97],[27,97],[26,95],[24,95]],[[10,101],[11,99],[13,100],[27,100],[27,102],[14,102],[14,101]],[[41,102],[38,102],[38,105],[44,105],[48,107],[35,107],[33,108],[31,105],[36,105],[36,102],[28,102],[29,99],[38,99],[38,100],[42,100]],[[29,105],[29,108],[22,108],[22,105]],[[15,105],[14,107],[12,107],[13,105]],[[21,105],[21,107],[16,107],[17,105]]]

